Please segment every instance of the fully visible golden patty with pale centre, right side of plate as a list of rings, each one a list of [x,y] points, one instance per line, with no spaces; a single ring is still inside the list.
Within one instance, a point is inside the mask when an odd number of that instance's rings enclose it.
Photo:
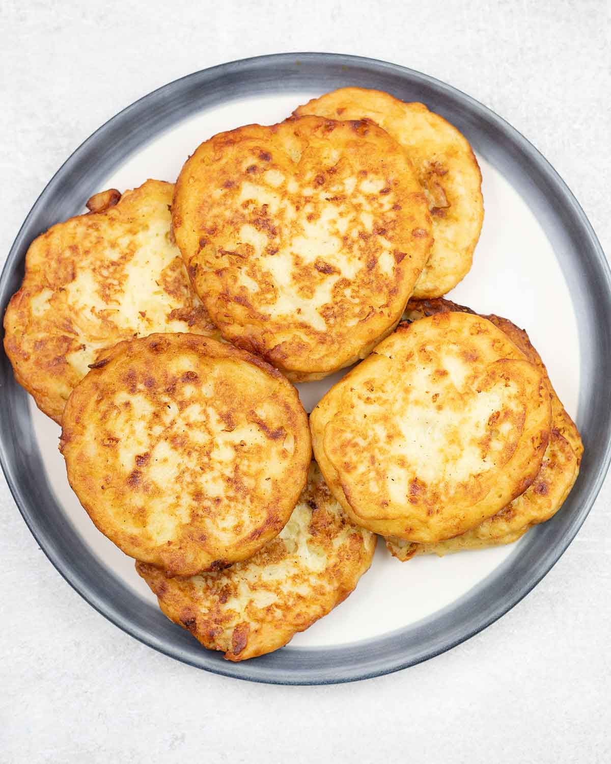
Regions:
[[[458,536],[535,479],[551,406],[542,371],[493,323],[402,323],[310,416],[314,453],[355,523],[408,541]]]

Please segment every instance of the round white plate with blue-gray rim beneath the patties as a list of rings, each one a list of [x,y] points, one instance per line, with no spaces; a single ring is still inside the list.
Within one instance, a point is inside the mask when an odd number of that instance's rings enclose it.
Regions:
[[[463,642],[510,610],[574,538],[611,458],[611,275],[577,201],[555,170],[500,117],[458,90],[392,63],[331,53],[281,53],[215,66],[170,83],[88,138],[53,177],[19,231],[0,305],[21,283],[31,241],[78,214],[89,196],[147,177],[175,180],[212,134],[271,124],[341,86],[422,101],[465,133],[480,160],[486,219],[471,273],[451,299],[528,329],[584,438],[570,497],[516,545],[400,563],[381,544],[349,600],[268,656],[231,663],[170,623],[133,570],[79,506],[57,452],[59,428],[0,363],[0,460],[24,520],[57,570],[105,617],[143,643],[201,669],[278,684],[386,674]],[[328,381],[299,386],[308,410]]]

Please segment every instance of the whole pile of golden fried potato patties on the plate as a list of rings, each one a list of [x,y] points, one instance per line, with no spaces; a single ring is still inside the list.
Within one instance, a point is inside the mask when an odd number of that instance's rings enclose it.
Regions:
[[[285,645],[375,533],[401,559],[506,543],[571,489],[579,435],[526,334],[423,299],[484,214],[426,106],[341,89],[87,206],[31,244],[5,348],[82,506],[204,646]],[[308,425],[293,383],[363,358]]]

